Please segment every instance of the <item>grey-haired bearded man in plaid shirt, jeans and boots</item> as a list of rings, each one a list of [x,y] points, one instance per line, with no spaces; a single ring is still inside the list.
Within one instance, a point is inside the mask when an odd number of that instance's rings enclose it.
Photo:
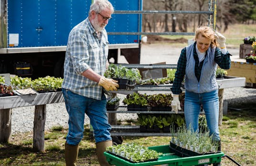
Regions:
[[[85,114],[90,118],[101,166],[108,166],[103,155],[112,145],[111,125],[106,113],[106,91],[116,91],[118,83],[103,76],[107,68],[108,37],[104,29],[114,9],[108,0],[95,0],[89,17],[75,26],[67,44],[62,92],[69,114],[65,143],[67,166],[75,166],[83,137]]]

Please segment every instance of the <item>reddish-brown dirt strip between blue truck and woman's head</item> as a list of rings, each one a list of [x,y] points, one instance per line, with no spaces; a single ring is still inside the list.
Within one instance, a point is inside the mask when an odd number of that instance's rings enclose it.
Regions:
[[[181,37],[181,38],[176,38],[176,39],[170,39],[170,38],[165,38],[165,37],[160,37],[158,35],[148,35],[147,36],[147,43],[155,43],[155,42],[168,42],[168,43],[187,43],[187,39]]]

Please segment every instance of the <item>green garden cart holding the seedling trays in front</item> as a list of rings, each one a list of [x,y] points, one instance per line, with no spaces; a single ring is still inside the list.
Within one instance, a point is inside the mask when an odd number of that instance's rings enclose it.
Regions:
[[[108,152],[104,152],[107,161],[111,165],[116,166],[198,166],[204,164],[220,163],[221,157],[224,156],[223,152],[218,152],[209,155],[199,155],[192,157],[180,157],[175,155],[173,149],[169,145],[149,147],[150,149],[156,150],[157,152],[163,153],[158,157],[156,161],[148,161],[141,163],[131,163],[120,157],[114,156]]]

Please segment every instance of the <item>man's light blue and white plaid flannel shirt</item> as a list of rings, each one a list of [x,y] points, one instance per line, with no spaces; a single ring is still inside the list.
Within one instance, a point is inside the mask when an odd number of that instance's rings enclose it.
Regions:
[[[104,29],[97,36],[89,18],[76,25],[69,34],[62,88],[85,97],[101,100],[102,86],[84,77],[91,68],[103,75],[108,57],[108,37]]]

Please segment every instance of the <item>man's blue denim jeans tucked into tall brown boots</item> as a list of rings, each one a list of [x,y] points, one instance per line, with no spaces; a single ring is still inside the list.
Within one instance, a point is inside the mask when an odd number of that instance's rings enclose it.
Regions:
[[[77,145],[82,140],[85,114],[90,119],[96,143],[112,139],[104,93],[102,93],[102,100],[84,97],[63,88],[62,93],[69,114],[69,131],[66,137],[69,145]]]

